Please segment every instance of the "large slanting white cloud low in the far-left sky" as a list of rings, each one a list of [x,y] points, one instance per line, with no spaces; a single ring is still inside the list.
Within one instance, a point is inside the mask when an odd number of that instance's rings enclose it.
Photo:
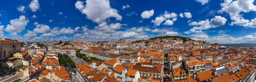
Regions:
[[[29,20],[26,19],[25,16],[21,15],[19,18],[11,20],[10,23],[11,25],[8,24],[5,28],[5,31],[20,33],[23,29],[25,29],[25,26],[27,23],[29,23]]]

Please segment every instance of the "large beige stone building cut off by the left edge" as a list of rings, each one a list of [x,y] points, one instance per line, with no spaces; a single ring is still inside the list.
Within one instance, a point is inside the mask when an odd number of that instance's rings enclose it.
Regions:
[[[1,39],[0,40],[0,60],[6,59],[7,57],[12,57],[12,54],[20,52],[21,42],[10,40],[10,39]]]

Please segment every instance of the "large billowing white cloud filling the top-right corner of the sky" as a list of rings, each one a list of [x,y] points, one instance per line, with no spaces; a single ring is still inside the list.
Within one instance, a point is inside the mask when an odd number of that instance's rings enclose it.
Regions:
[[[241,12],[247,13],[250,11],[256,11],[256,6],[253,4],[254,0],[224,0],[221,3],[221,10],[218,13],[228,13],[230,19],[233,20],[230,25],[241,25],[244,27],[255,28],[255,18],[252,20],[246,20],[242,17]]]

